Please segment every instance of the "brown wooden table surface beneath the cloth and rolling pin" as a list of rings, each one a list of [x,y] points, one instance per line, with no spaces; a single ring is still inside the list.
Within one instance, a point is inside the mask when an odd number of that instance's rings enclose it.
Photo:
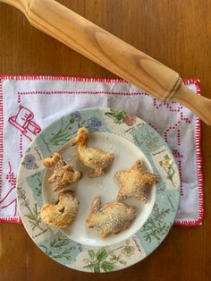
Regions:
[[[73,11],[175,69],[198,78],[211,98],[210,0],[60,0]],[[0,73],[115,77],[30,26],[21,12],[0,4]],[[211,109],[210,109],[211,110]],[[87,274],[48,258],[21,225],[0,225],[0,280],[211,280],[211,127],[203,124],[203,226],[173,226],[165,242],[137,265]],[[191,165],[191,163],[190,163]]]

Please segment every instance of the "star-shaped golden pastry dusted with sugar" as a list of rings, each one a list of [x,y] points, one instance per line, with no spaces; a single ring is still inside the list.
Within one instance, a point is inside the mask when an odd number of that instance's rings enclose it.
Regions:
[[[139,160],[131,167],[131,170],[116,172],[115,177],[120,183],[117,201],[134,197],[144,203],[148,201],[148,187],[159,180],[158,175],[145,172]]]

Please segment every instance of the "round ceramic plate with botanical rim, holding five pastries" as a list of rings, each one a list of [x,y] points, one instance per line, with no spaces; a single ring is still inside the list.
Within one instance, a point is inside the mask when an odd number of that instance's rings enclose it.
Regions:
[[[77,147],[70,146],[82,126],[89,128],[91,146],[115,155],[105,176],[90,179],[89,169],[77,158]],[[47,226],[39,215],[44,203],[57,200],[58,192],[52,192],[46,180],[50,172],[42,165],[55,151],[83,173],[79,183],[66,188],[77,194],[80,209],[72,226],[63,230]],[[125,200],[137,209],[131,227],[102,239],[96,229],[86,227],[91,201],[95,196],[103,204],[115,200],[118,183],[114,172],[130,169],[137,159],[161,180],[149,189],[147,204]],[[143,260],[165,239],[179,206],[180,176],[170,149],[148,123],[125,112],[89,108],[63,116],[30,143],[21,161],[17,191],[23,225],[46,255],[69,268],[108,272]]]

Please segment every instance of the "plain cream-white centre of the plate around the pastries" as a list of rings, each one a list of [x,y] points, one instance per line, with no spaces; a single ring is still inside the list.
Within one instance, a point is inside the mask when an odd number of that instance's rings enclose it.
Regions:
[[[63,234],[70,237],[76,243],[102,247],[122,242],[132,234],[135,234],[139,228],[143,226],[154,206],[156,186],[153,185],[149,188],[147,204],[132,198],[122,201],[137,209],[137,217],[129,229],[119,234],[112,234],[108,237],[101,238],[99,230],[97,231],[96,228],[90,229],[86,226],[86,219],[89,215],[92,200],[96,196],[100,196],[102,205],[115,200],[118,191],[118,182],[114,177],[114,173],[131,169],[131,166],[136,160],[140,159],[145,169],[150,173],[152,173],[152,168],[148,159],[136,145],[114,133],[98,132],[90,134],[89,146],[114,153],[114,163],[107,169],[106,175],[90,179],[88,173],[91,170],[83,166],[78,160],[76,153],[77,147],[71,147],[70,143],[67,143],[58,151],[62,154],[66,163],[71,161],[73,169],[81,171],[83,174],[79,183],[74,183],[65,189],[76,193],[80,201],[80,208],[78,216],[72,226],[61,230]],[[52,192],[50,185],[47,183],[47,178],[50,173],[51,172],[46,171],[43,181],[43,199],[45,203],[55,202],[58,197],[58,192]]]

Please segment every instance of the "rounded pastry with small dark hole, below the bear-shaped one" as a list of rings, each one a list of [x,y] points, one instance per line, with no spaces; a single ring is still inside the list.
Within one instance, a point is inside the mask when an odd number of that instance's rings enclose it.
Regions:
[[[75,220],[79,209],[79,200],[73,192],[60,192],[57,204],[47,203],[40,211],[44,223],[50,226],[67,227]]]

